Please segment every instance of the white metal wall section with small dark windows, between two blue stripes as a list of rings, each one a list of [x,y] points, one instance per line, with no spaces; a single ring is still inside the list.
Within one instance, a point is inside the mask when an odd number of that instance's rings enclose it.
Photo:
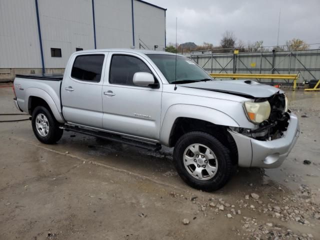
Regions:
[[[38,0],[44,66],[65,67],[76,47],[94,48],[90,0]],[[62,57],[51,57],[50,48],[61,48]]]

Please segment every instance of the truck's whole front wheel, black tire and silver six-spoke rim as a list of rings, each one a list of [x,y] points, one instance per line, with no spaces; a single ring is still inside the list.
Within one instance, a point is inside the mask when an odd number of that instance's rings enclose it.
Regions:
[[[182,135],[174,147],[173,159],[180,177],[197,189],[217,190],[232,174],[228,148],[205,132],[192,131]]]

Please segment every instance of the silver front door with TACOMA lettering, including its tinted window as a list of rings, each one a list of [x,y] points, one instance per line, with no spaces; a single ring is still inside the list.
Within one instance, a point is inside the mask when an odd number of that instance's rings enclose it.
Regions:
[[[149,62],[135,53],[109,52],[102,86],[103,128],[151,140],[159,138],[162,83]],[[133,84],[135,72],[153,74],[156,88]]]

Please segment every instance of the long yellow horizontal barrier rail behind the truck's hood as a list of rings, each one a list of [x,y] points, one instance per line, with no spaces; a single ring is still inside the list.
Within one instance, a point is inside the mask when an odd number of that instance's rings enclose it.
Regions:
[[[227,77],[227,78],[263,78],[263,79],[292,79],[294,91],[296,88],[296,80],[299,79],[299,74],[250,74],[250,73],[209,73],[212,77]],[[318,82],[319,83],[319,82]]]

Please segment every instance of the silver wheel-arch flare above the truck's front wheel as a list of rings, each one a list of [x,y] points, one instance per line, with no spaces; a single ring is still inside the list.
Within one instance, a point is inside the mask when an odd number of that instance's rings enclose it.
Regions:
[[[160,129],[161,144],[169,144],[170,132],[174,121],[178,117],[189,117],[205,120],[216,125],[235,127],[239,126],[239,124],[231,116],[217,109],[192,104],[174,104],[167,109],[162,121]]]

